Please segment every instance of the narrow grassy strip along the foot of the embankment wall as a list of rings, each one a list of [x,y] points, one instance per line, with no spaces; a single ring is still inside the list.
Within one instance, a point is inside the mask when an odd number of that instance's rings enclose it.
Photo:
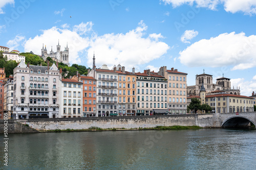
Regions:
[[[199,126],[157,126],[155,128],[131,128],[131,129],[102,129],[99,127],[90,127],[89,129],[55,129],[55,130],[45,130],[39,132],[93,132],[93,131],[132,131],[132,130],[187,130],[187,129],[202,129]]]

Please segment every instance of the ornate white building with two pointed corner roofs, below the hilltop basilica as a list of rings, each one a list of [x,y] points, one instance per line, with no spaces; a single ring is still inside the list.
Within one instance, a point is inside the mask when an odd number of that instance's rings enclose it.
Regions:
[[[60,73],[55,64],[35,66],[22,61],[13,73],[13,118],[59,117]]]

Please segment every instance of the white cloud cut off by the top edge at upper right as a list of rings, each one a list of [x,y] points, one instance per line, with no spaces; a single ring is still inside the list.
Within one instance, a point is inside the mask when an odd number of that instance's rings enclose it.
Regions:
[[[223,4],[225,11],[236,13],[243,12],[244,14],[256,14],[256,1],[255,0],[160,0],[164,4],[172,4],[174,8],[188,4],[190,6],[196,4],[197,7],[209,8],[216,10],[219,4]]]

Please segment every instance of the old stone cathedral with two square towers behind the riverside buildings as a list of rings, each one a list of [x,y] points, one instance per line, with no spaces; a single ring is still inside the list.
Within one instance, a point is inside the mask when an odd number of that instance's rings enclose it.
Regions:
[[[211,95],[215,92],[225,92],[229,94],[240,95],[240,89],[231,88],[231,83],[229,78],[216,79],[216,84],[212,82],[212,75],[201,74],[196,76],[196,85],[187,86],[187,95],[199,95],[202,85],[205,88],[206,95]]]

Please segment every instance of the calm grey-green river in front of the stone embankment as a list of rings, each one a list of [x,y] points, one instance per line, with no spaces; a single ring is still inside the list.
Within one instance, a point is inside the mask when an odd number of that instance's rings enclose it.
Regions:
[[[0,169],[255,169],[256,130],[1,134]]]

